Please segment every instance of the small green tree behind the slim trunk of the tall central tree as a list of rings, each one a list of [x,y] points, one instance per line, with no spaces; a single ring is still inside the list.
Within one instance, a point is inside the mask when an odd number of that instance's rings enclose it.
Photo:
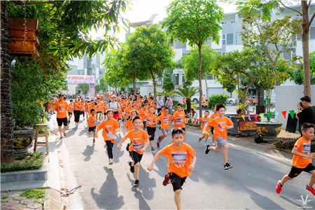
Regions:
[[[211,49],[210,45],[202,45],[202,77],[206,83],[207,97],[209,97],[207,75],[211,71],[210,66],[214,61],[214,55],[216,52]],[[190,50],[190,55],[184,57],[184,70],[186,80],[193,81],[198,78],[199,50],[197,48]]]

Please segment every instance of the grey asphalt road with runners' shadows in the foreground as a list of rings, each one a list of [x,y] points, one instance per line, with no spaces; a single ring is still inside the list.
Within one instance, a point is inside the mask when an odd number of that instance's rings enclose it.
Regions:
[[[162,186],[168,165],[165,156],[148,172],[146,168],[157,151],[147,148],[141,161],[140,186],[133,188],[126,142],[120,150],[116,148],[121,137],[116,139],[114,164],[110,166],[102,135],[93,144],[83,120],[74,127],[72,119],[66,132],[62,144],[69,150],[71,167],[82,185],[78,191],[84,209],[176,209],[172,186]],[[155,139],[160,134],[157,130]],[[281,194],[276,194],[277,181],[290,171],[289,160],[230,144],[228,162],[233,168],[225,171],[223,151],[205,155],[203,141],[197,144],[197,139],[196,134],[187,134],[187,143],[197,153],[197,163],[183,185],[183,209],[315,209],[314,195],[305,189],[311,177],[307,173],[288,181]],[[167,137],[161,147],[171,143]],[[309,196],[307,205],[297,201],[301,195],[304,200]]]

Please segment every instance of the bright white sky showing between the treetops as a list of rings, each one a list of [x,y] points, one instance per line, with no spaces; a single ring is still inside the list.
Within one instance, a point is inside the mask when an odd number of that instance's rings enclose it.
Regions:
[[[151,15],[158,14],[153,22],[158,23],[167,17],[166,7],[171,3],[172,0],[137,0],[132,1],[132,5],[130,5],[130,9],[127,9],[125,13],[121,15],[123,18],[130,20],[130,22],[140,22],[148,20]],[[236,11],[236,7],[232,4],[228,3],[218,3],[221,6],[225,13],[232,13]],[[123,27],[123,25],[121,25]],[[97,38],[97,36],[102,37],[102,31],[91,31],[90,36],[92,38]],[[125,42],[125,30],[123,28],[120,29],[120,34],[116,34],[116,36],[120,39],[120,42]]]

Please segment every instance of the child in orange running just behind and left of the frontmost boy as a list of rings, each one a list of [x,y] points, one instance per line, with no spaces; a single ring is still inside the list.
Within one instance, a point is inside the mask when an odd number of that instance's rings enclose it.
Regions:
[[[140,162],[142,155],[144,155],[144,152],[148,147],[149,136],[144,130],[141,130],[142,123],[138,116],[136,116],[132,120],[132,124],[134,126],[134,130],[128,132],[127,135],[123,137],[123,139],[121,139],[117,148],[119,149],[121,144],[123,144],[123,142],[126,139],[130,139],[132,141],[132,144],[130,144],[129,147],[129,151],[131,152],[133,161],[128,162],[128,165],[130,166],[130,172],[134,173],[134,175],[136,176],[136,180],[134,181],[134,187],[138,187],[140,185],[139,183]]]

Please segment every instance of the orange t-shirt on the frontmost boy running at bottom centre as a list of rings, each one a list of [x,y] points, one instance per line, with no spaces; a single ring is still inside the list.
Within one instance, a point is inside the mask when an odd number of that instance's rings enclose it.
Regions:
[[[191,165],[191,158],[196,155],[196,152],[186,143],[180,148],[175,148],[174,143],[163,148],[160,153],[169,158],[169,173],[174,173],[183,178],[190,176],[191,171],[188,167]]]

